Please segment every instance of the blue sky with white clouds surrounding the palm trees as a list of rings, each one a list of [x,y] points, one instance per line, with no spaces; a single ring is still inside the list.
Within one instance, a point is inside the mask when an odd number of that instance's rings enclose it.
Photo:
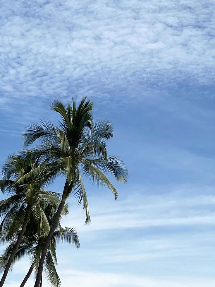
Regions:
[[[0,165],[28,124],[56,122],[52,100],[87,96],[94,118],[113,122],[108,150],[129,170],[118,201],[86,182],[89,226],[70,197],[63,224],[80,249],[57,248],[62,286],[214,287],[214,1],[0,6]],[[20,286],[29,267],[26,257],[4,286]]]

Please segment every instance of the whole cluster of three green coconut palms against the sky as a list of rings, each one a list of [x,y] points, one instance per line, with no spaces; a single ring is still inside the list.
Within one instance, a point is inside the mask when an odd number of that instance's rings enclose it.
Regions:
[[[51,110],[59,113],[58,125],[49,121],[32,124],[23,133],[25,149],[8,157],[2,168],[1,191],[7,198],[0,201],[0,243],[6,244],[0,258],[3,286],[8,271],[24,256],[30,259],[30,269],[20,284],[24,286],[35,272],[35,287],[42,286],[43,267],[52,286],[61,284],[56,271],[56,245],[66,242],[79,248],[75,228],[61,226],[68,216],[66,200],[75,194],[86,211],[85,223],[90,223],[87,194],[83,178],[109,188],[115,199],[117,191],[108,173],[118,182],[126,182],[127,169],[117,156],[107,154],[106,144],[113,137],[113,126],[107,120],[94,122],[93,103],[83,98],[64,105],[56,100]],[[37,142],[32,149],[28,146]],[[63,176],[62,193],[47,190],[56,177]]]

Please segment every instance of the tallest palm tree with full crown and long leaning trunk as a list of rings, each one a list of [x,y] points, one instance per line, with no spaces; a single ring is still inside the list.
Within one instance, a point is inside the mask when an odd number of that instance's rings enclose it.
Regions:
[[[41,172],[52,179],[56,175],[64,175],[66,178],[61,203],[42,248],[35,287],[39,287],[49,242],[56,229],[61,210],[71,193],[76,194],[79,204],[83,201],[83,207],[86,210],[85,223],[90,222],[83,177],[99,186],[108,187],[115,199],[118,196],[117,191],[105,173],[114,175],[118,182],[127,181],[128,172],[121,160],[117,156],[107,154],[106,141],[113,137],[113,126],[107,120],[94,123],[92,108],[93,103],[87,101],[86,98],[81,100],[78,107],[74,99],[72,105],[63,105],[62,102],[56,100],[52,103],[51,110],[60,114],[59,125],[41,122],[41,124],[30,126],[23,134],[24,146],[29,146],[37,139],[41,140],[39,147],[31,153],[36,158],[43,157],[46,168],[39,167],[23,175],[18,181],[21,183],[28,177]]]

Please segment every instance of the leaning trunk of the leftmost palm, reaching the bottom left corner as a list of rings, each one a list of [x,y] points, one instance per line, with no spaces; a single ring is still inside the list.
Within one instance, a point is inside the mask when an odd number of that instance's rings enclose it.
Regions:
[[[16,252],[18,251],[18,248],[19,248],[20,243],[22,241],[23,235],[25,233],[25,229],[26,229],[26,226],[27,226],[29,215],[30,215],[30,205],[27,204],[23,226],[22,226],[22,229],[21,229],[20,234],[18,236],[17,242],[14,245],[13,251],[11,252],[11,256],[8,259],[8,263],[6,265],[6,268],[4,270],[4,274],[3,274],[2,278],[1,278],[1,281],[0,281],[0,287],[3,286],[4,281],[5,281],[6,277],[7,277],[8,271],[9,271],[9,269],[11,267],[12,262],[13,262],[14,256],[16,255]]]

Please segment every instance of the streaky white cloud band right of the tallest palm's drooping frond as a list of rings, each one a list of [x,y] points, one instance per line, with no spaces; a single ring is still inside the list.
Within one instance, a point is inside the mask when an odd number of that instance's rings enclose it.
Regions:
[[[206,192],[206,188],[204,188]],[[66,225],[76,224],[79,232],[94,232],[113,229],[149,228],[158,226],[197,226],[214,225],[215,197],[211,195],[186,196],[185,190],[178,193],[147,196],[136,194],[125,200],[118,201],[113,209],[113,202],[107,199],[90,198],[90,213],[92,223],[84,226],[84,214],[80,216],[80,209],[72,209],[64,220]],[[187,191],[188,193],[188,191]],[[188,194],[189,194],[188,193]],[[182,196],[183,194],[183,196]],[[139,202],[139,204],[137,203]],[[101,209],[102,207],[102,209]]]

